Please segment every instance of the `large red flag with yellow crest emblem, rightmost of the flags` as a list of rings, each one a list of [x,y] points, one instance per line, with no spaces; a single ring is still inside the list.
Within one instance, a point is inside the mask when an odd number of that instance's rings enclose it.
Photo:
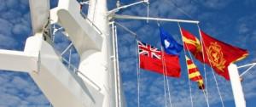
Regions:
[[[218,41],[203,31],[201,31],[201,37],[204,44],[204,56],[207,56],[205,57],[205,62],[211,65],[218,75],[224,76],[226,80],[230,80],[228,66],[230,63],[247,57],[247,50]]]

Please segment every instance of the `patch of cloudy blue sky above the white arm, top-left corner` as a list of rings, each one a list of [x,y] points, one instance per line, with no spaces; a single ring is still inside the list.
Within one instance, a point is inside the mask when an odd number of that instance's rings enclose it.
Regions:
[[[3,6],[0,7],[0,47],[16,50],[23,49],[24,40],[31,32],[30,14],[27,11],[28,1],[20,3],[20,1],[16,0],[1,0],[0,2],[1,6]],[[4,11],[1,11],[1,8],[4,8]]]

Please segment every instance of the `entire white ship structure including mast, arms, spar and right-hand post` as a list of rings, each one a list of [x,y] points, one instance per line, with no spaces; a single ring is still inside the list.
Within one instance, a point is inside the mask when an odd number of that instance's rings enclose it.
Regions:
[[[119,72],[115,19],[172,21],[194,23],[195,20],[173,20],[116,14],[148,0],[118,5],[108,10],[107,0],[59,0],[56,8],[49,8],[49,0],[29,0],[33,36],[26,39],[24,51],[0,50],[0,69],[23,71],[42,90],[55,107],[125,107],[125,96]],[[88,14],[80,5],[88,4]],[[119,3],[118,3],[119,4]],[[79,53],[79,68],[63,65],[61,54],[52,46],[52,24],[61,25]],[[129,31],[129,30],[127,30]],[[132,31],[131,31],[132,33]],[[70,60],[65,60],[70,63]],[[255,65],[255,64],[251,64]],[[245,65],[248,66],[248,65]],[[73,71],[70,68],[73,67]],[[229,67],[230,82],[236,107],[245,107],[237,66]],[[136,105],[135,105],[136,106]]]

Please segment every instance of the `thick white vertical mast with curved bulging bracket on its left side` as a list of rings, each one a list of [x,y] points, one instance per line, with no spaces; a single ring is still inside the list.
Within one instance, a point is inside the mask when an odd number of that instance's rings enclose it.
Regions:
[[[102,48],[80,54],[79,70],[101,87],[102,107],[116,107],[113,47],[108,22],[107,0],[90,0],[88,19],[102,31]],[[100,43],[100,42],[99,42]]]

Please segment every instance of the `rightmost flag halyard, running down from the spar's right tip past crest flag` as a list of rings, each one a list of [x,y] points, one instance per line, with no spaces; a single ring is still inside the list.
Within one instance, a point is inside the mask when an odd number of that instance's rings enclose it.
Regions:
[[[201,29],[200,29],[199,25],[198,25],[198,28],[199,28],[199,33],[200,33],[200,37],[201,37]],[[202,37],[201,37],[201,42],[202,42]],[[204,47],[205,47],[204,42],[202,42],[202,45],[203,45],[202,48],[204,48]],[[202,53],[202,55],[203,55],[203,57],[204,57],[204,53]],[[207,56],[208,56],[208,53],[207,53]],[[207,57],[207,59],[209,59],[209,58]],[[205,60],[204,60],[204,61],[205,61]],[[218,90],[219,99],[220,99],[220,101],[221,101],[222,107],[224,107],[223,98],[222,98],[222,95],[221,95],[220,90],[219,90],[219,87],[218,87],[218,81],[217,81],[216,76],[215,76],[215,74],[214,74],[214,71],[213,71],[213,69],[212,69],[212,64],[211,64],[211,63],[209,63],[209,64],[210,64],[210,66],[211,66],[212,75],[213,75],[213,78],[214,78],[214,81],[215,81],[215,84],[216,84],[216,87],[217,87],[217,90]]]

